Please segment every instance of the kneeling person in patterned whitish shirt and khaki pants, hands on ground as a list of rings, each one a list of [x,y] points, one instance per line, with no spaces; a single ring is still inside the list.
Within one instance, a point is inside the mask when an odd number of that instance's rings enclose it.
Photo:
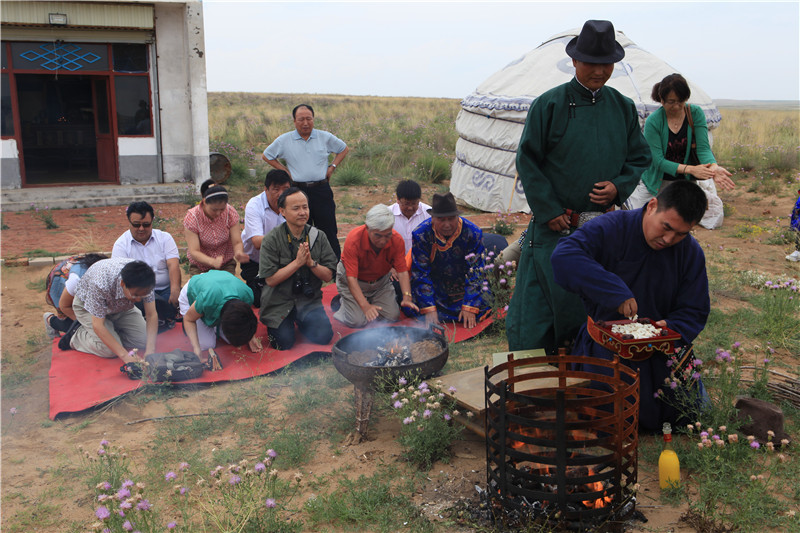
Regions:
[[[153,287],[156,275],[144,261],[127,258],[103,259],[89,267],[78,282],[72,310],[80,322],[72,335],[63,338],[69,347],[100,357],[119,357],[125,363],[139,361],[155,352],[158,333]],[[134,304],[144,303],[147,321]]]

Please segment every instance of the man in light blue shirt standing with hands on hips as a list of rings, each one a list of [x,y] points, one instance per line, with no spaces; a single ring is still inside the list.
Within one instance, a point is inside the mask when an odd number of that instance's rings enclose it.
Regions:
[[[327,131],[314,129],[314,108],[300,104],[292,109],[295,131],[284,133],[270,144],[261,158],[278,170],[285,170],[294,184],[308,196],[309,224],[320,229],[336,254],[341,256],[336,236],[336,204],[330,179],[349,149]],[[328,155],[336,154],[328,164]],[[286,162],[284,166],[278,158]]]

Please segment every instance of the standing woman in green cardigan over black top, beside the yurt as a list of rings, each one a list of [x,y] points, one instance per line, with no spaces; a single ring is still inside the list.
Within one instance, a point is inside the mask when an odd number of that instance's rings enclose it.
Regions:
[[[642,207],[675,180],[713,179],[722,189],[734,188],[731,173],[717,165],[711,153],[705,113],[699,106],[686,103],[690,95],[689,84],[680,74],[670,74],[653,86],[650,97],[661,107],[644,125],[653,162],[625,203],[628,209]],[[689,164],[692,142],[696,143],[700,164]]]

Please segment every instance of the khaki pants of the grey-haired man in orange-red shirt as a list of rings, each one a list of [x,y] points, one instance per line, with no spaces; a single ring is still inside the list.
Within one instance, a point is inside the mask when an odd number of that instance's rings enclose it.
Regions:
[[[396,322],[400,319],[400,306],[397,305],[397,300],[395,299],[394,286],[392,285],[390,274],[386,274],[373,283],[359,280],[358,286],[369,303],[381,308],[378,311],[381,318],[389,322]],[[341,262],[336,267],[336,288],[342,296],[342,307],[334,313],[333,318],[351,328],[363,328],[366,326],[367,317],[350,292],[350,287],[347,285],[347,273],[345,272],[344,264]]]

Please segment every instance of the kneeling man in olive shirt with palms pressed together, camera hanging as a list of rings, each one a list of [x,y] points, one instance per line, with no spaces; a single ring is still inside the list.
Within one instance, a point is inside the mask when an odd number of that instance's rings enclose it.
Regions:
[[[333,279],[336,254],[325,233],[308,222],[308,197],[297,187],[278,198],[286,220],[261,241],[258,275],[266,285],[261,292],[261,322],[270,344],[278,350],[294,346],[294,325],[314,344],[333,337],[322,307],[322,283]]]

